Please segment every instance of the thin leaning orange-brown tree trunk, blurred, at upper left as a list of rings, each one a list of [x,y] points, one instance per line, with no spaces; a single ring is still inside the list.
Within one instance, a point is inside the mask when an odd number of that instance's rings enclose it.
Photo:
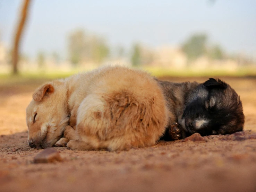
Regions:
[[[29,8],[31,0],[24,0],[23,1],[23,6],[22,6],[22,11],[20,15],[20,21],[17,27],[16,35],[15,35],[15,40],[14,40],[14,48],[13,48],[13,55],[12,55],[12,65],[13,65],[13,73],[17,74],[18,73],[18,60],[19,60],[19,44],[20,44],[20,39],[23,33],[24,25],[27,20],[27,12]]]

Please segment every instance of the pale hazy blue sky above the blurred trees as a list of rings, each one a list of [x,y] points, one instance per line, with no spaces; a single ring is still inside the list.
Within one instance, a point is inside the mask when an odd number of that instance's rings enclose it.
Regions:
[[[212,0],[213,1],[213,0]],[[205,32],[229,53],[256,55],[256,0],[32,0],[22,52],[58,52],[77,28],[104,35],[126,49],[134,42],[179,45]],[[13,41],[20,0],[0,0],[0,40]]]

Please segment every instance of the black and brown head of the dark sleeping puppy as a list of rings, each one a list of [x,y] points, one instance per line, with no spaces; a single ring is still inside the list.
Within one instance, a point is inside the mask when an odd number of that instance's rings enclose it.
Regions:
[[[239,95],[227,83],[210,78],[187,98],[183,126],[202,135],[242,131],[245,116]]]

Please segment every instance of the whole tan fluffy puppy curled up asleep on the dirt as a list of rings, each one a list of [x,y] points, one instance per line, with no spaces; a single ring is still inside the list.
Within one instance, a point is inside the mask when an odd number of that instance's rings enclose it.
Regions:
[[[39,87],[26,120],[30,147],[112,151],[154,145],[168,114],[153,77],[109,66]]]

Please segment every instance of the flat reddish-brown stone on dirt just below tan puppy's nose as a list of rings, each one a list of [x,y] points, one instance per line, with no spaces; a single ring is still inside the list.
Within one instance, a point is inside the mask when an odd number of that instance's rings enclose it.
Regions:
[[[52,163],[62,161],[59,151],[53,148],[45,149],[34,157],[34,163]]]

